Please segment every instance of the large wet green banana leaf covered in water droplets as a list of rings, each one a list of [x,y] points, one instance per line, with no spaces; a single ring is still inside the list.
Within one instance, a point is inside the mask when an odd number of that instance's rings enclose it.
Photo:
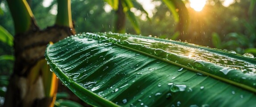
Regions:
[[[187,42],[83,33],[48,45],[51,70],[102,107],[255,106],[256,60]]]

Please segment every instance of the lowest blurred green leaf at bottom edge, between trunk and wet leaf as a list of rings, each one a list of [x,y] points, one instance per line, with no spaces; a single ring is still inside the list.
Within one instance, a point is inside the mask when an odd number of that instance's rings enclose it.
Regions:
[[[59,100],[56,100],[55,101],[55,106],[56,107],[83,107],[81,104],[79,103],[76,103],[74,101],[71,101],[71,100],[62,100],[62,99],[59,99]]]

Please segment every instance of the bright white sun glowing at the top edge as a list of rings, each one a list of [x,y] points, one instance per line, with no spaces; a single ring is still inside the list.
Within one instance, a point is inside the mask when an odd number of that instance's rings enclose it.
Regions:
[[[202,10],[205,4],[206,0],[190,0],[190,7],[198,12]]]

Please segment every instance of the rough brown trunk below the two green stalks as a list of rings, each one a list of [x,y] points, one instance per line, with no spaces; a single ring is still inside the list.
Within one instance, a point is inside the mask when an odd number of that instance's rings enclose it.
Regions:
[[[34,24],[33,24],[34,25]],[[10,78],[4,107],[49,107],[53,106],[52,97],[45,96],[43,70],[34,69],[44,59],[46,45],[73,35],[74,29],[53,26],[39,30],[34,25],[29,32],[18,34],[14,39],[15,64]],[[36,75],[36,77],[31,75]],[[31,77],[33,82],[31,83]],[[56,78],[56,77],[54,77]],[[50,79],[50,78],[49,78]],[[58,81],[55,81],[58,86]],[[57,88],[54,90],[55,94]]]

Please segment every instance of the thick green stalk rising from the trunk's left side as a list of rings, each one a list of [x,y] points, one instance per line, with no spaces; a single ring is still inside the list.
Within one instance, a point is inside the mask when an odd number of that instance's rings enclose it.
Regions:
[[[15,33],[25,33],[31,29],[33,13],[26,0],[7,0],[14,21]]]

